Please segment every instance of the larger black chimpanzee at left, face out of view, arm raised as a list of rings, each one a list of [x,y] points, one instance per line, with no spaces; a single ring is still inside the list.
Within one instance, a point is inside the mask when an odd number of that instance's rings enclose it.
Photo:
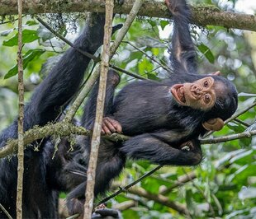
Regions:
[[[83,34],[74,42],[76,47],[90,54],[96,52],[103,40],[104,17],[105,15],[99,14],[88,19]],[[37,87],[30,103],[26,105],[25,130],[55,121],[60,107],[67,105],[70,98],[78,91],[89,61],[90,58],[73,48],[64,54],[45,81]],[[0,134],[0,147],[4,147],[9,138],[17,138],[17,120]],[[36,142],[33,144],[36,145]],[[62,161],[52,160],[53,148],[54,145],[50,140],[45,139],[40,143],[40,151],[34,151],[31,147],[25,151],[22,205],[24,218],[57,218],[58,192],[66,190],[66,184],[73,183],[66,182]],[[0,160],[0,204],[12,218],[16,217],[16,197],[17,156],[13,156],[10,160],[9,158]],[[0,218],[7,218],[1,207]]]

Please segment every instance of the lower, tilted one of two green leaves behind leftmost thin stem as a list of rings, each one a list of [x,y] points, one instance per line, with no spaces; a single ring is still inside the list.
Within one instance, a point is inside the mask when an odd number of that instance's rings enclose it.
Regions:
[[[30,49],[26,52],[26,54],[23,56],[23,69],[26,69],[27,65],[33,61],[36,58],[39,58],[41,54],[44,54],[44,49]],[[17,64],[13,66],[7,74],[4,76],[4,79],[7,79],[9,77],[15,76],[18,73],[18,67]]]

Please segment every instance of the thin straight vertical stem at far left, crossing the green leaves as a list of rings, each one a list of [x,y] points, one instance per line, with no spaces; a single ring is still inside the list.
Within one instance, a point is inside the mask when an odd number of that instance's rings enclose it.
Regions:
[[[17,165],[17,218],[22,218],[22,193],[23,193],[23,173],[24,173],[24,83],[23,83],[23,60],[22,60],[22,0],[18,0],[18,165]]]

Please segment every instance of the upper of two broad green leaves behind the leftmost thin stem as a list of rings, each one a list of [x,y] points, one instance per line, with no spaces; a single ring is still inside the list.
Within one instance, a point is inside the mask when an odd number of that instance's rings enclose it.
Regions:
[[[22,43],[31,43],[35,40],[38,40],[39,36],[36,33],[36,30],[23,30],[22,31]],[[10,38],[9,40],[3,41],[2,45],[5,46],[14,46],[18,44],[18,34]]]

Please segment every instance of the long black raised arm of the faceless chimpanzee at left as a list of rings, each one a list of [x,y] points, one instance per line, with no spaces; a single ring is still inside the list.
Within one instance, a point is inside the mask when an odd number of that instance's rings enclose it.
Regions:
[[[88,19],[83,34],[75,40],[74,45],[83,51],[94,54],[102,44],[104,15],[93,15]],[[93,25],[92,24],[96,24]],[[30,103],[25,108],[24,128],[44,125],[53,121],[59,114],[61,106],[69,103],[70,98],[78,91],[85,69],[90,58],[70,48],[56,63],[44,82],[36,88]],[[0,146],[8,138],[17,137],[17,120],[5,129],[0,136]]]

